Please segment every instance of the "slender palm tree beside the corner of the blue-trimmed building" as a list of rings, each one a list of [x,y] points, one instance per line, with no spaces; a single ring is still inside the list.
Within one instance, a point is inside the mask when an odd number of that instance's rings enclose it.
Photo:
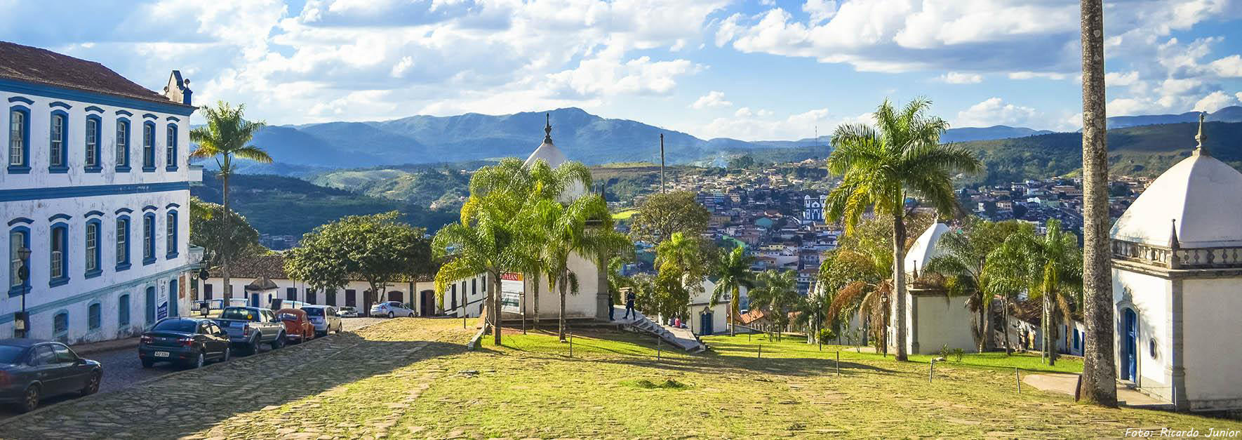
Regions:
[[[224,198],[224,211],[229,213],[229,176],[232,175],[232,159],[250,159],[262,163],[272,163],[272,157],[267,155],[260,147],[250,145],[255,133],[263,128],[262,122],[246,121],[242,116],[246,104],[230,106],[220,101],[216,107],[204,107],[202,113],[207,123],[190,131],[190,140],[199,144],[199,148],[190,153],[191,158],[216,158],[220,168],[221,195]],[[225,215],[224,230],[229,230],[229,216]],[[229,282],[229,252],[221,245],[220,272],[225,278],[225,302],[232,298],[232,285]]]

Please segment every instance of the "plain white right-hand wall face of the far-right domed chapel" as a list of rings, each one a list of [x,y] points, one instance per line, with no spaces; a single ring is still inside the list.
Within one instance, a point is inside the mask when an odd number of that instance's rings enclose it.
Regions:
[[[1242,404],[1242,278],[1185,280],[1182,295],[1186,396]]]

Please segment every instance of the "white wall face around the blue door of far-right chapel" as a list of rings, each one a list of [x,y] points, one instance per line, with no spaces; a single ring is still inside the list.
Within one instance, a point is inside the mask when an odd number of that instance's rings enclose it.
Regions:
[[[1124,302],[1126,291],[1129,291],[1129,301],[1133,303]],[[1139,318],[1139,334],[1135,343],[1138,359],[1136,375],[1139,378],[1135,383],[1149,394],[1171,400],[1172,388],[1165,375],[1171,368],[1172,359],[1172,328],[1170,327],[1172,282],[1150,275],[1114,268],[1113,303],[1117,305],[1114,314],[1117,322],[1113,327],[1113,336],[1118,378],[1122,378],[1122,368],[1125,368],[1125,359],[1122,354],[1122,344],[1124,343],[1124,334],[1122,333],[1125,319],[1124,309],[1133,308]],[[1148,344],[1151,338],[1156,339],[1155,357],[1153,357]]]

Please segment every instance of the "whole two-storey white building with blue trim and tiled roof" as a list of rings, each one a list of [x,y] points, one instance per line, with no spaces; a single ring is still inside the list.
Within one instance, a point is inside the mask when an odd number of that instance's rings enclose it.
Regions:
[[[10,42],[0,60],[0,337],[15,334],[22,308],[29,337],[70,343],[184,313],[190,181],[201,180],[188,165],[188,81],[174,71],[155,93],[97,62]]]

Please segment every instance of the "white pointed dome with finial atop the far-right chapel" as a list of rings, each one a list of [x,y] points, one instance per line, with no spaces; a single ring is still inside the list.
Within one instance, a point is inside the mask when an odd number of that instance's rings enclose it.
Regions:
[[[1122,214],[1113,239],[1180,247],[1242,246],[1242,173],[1203,148],[1200,117],[1195,153],[1160,174]]]

